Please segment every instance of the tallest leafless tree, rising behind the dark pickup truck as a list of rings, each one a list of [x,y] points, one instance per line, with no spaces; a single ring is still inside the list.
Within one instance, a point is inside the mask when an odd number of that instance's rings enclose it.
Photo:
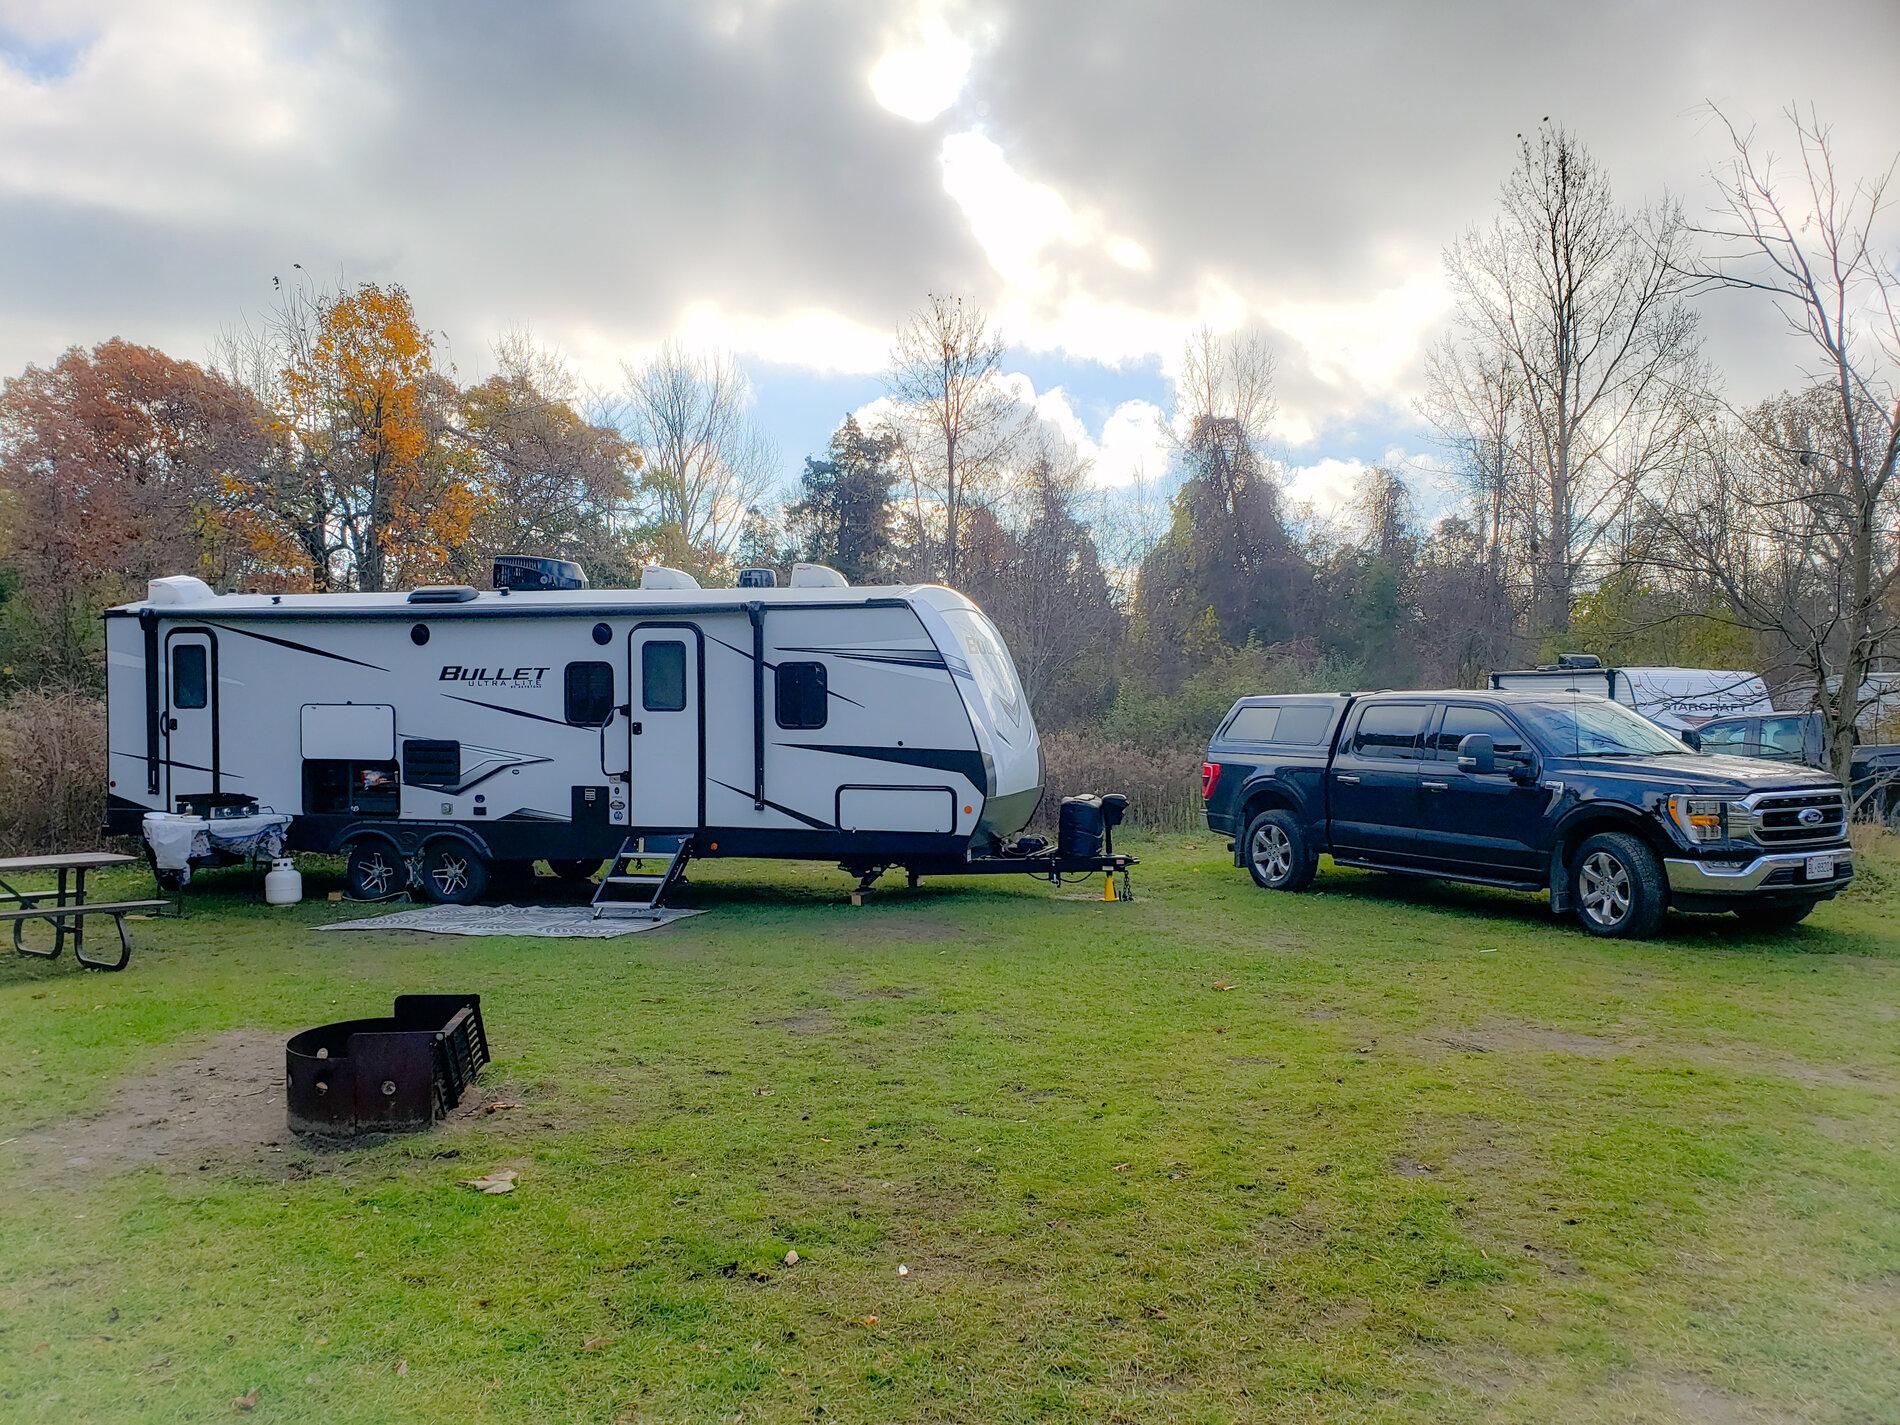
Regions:
[[[1674,466],[1687,433],[1680,391],[1699,369],[1682,302],[1682,215],[1617,207],[1575,137],[1520,137],[1501,213],[1446,253],[1457,327],[1440,355],[1440,424],[1495,437],[1522,464],[1501,513],[1524,524],[1533,618],[1569,623],[1569,602],[1644,479]],[[1509,410],[1499,408],[1512,393]]]

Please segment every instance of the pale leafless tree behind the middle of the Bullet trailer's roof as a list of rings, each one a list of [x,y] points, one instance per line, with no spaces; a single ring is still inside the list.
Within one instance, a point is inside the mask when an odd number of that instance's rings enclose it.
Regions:
[[[773,483],[777,452],[747,414],[750,388],[724,353],[667,344],[623,367],[621,426],[640,452],[640,484],[680,557],[726,555]]]

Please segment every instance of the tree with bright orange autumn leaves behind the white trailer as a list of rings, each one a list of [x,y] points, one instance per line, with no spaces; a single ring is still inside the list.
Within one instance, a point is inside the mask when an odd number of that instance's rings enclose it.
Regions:
[[[386,589],[456,572],[483,496],[448,439],[454,384],[401,287],[291,293],[279,306],[268,481],[315,589]]]

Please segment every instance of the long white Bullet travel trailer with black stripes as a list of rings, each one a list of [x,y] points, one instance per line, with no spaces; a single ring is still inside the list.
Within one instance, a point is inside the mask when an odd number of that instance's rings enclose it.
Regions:
[[[640,910],[686,855],[836,861],[864,885],[1130,861],[1015,840],[1043,794],[1036,722],[996,627],[935,585],[800,564],[788,587],[648,568],[589,589],[522,557],[490,591],[165,578],[108,610],[106,667],[108,830],[289,813],[289,847],[348,855],[359,897],[473,901],[534,861],[612,861],[597,906]]]

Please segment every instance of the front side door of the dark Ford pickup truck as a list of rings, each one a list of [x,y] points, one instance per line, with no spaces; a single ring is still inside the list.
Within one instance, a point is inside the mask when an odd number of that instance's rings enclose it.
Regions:
[[[1482,732],[1501,754],[1524,752],[1530,741],[1501,712],[1448,703],[1427,739],[1419,802],[1431,855],[1444,870],[1469,876],[1535,880],[1543,874],[1545,808],[1550,792],[1512,781],[1505,770],[1484,775],[1459,771],[1457,745]]]

